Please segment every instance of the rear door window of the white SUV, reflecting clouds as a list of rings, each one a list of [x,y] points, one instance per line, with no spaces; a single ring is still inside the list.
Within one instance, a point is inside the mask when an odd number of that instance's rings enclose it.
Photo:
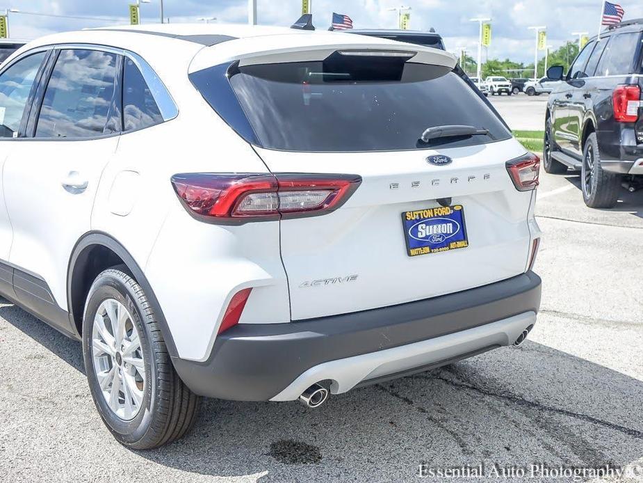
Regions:
[[[86,138],[104,134],[117,56],[97,50],[63,50],[44,92],[35,136]]]

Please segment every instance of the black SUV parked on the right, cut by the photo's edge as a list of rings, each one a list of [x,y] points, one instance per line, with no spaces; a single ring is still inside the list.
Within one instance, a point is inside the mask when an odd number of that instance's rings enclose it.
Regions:
[[[612,26],[589,40],[550,96],[543,164],[547,173],[581,171],[585,204],[609,208],[625,181],[643,180],[643,19]],[[634,188],[633,188],[634,189]]]

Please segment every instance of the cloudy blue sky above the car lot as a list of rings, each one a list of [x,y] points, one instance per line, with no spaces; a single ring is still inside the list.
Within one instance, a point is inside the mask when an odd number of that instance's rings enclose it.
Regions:
[[[82,29],[90,26],[129,22],[128,4],[135,0],[8,0],[10,34],[14,38],[35,38],[44,33]],[[612,0],[614,1],[614,0]],[[259,23],[288,26],[300,15],[301,0],[257,0]],[[360,28],[394,28],[396,13],[387,8],[412,7],[412,29],[435,27],[446,40],[447,49],[455,52],[466,47],[475,56],[478,26],[471,17],[493,18],[494,37],[489,58],[512,58],[530,62],[533,59],[535,34],[530,25],[546,25],[548,43],[559,47],[573,38],[571,32],[599,27],[601,0],[312,0],[314,24],[326,29],[332,12],[349,15]],[[627,18],[643,17],[643,3],[622,0]],[[165,17],[171,22],[197,22],[204,17],[217,17],[218,22],[247,22],[247,0],[165,0]],[[140,7],[142,22],[158,22],[159,0]],[[31,15],[101,17],[71,19]]]

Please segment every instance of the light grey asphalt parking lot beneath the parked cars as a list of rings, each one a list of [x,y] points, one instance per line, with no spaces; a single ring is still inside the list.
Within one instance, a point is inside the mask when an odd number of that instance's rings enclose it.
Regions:
[[[522,102],[544,113],[543,101],[493,100],[514,129],[542,129],[512,119],[530,118]],[[643,191],[592,210],[578,175],[543,175],[537,216],[542,312],[522,347],[338,395],[316,411],[206,400],[193,433],[156,451],[111,438],[79,343],[3,301],[0,478],[390,482],[418,480],[423,463],[643,465]]]

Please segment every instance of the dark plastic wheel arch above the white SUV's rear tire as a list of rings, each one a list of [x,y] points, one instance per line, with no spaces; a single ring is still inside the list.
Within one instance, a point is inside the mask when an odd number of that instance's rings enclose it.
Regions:
[[[170,356],[177,356],[177,348],[174,345],[170,328],[143,270],[120,242],[104,232],[88,232],[83,235],[76,243],[70,258],[67,270],[67,303],[70,320],[78,335],[82,336],[83,333],[83,316],[87,294],[96,276],[101,271],[121,264],[127,267],[129,275],[145,291],[147,300],[152,305],[154,315],[161,326],[161,333],[168,352]]]

